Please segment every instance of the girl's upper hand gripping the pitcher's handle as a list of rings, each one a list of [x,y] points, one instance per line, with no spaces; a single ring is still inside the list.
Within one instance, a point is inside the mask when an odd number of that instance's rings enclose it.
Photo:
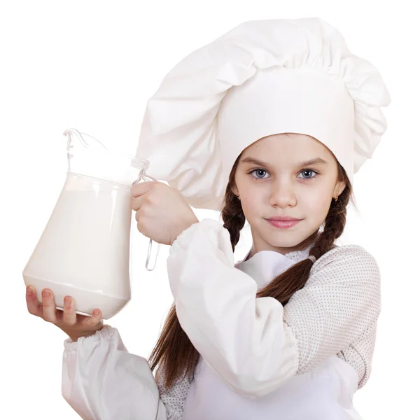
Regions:
[[[176,188],[159,181],[146,181],[132,187],[132,209],[137,229],[160,244],[172,245],[184,230],[198,223],[190,204]]]

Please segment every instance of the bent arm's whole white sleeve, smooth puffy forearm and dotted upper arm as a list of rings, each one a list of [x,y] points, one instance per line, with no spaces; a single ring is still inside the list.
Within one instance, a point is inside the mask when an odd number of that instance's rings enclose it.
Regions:
[[[319,258],[284,308],[273,297],[256,298],[257,283],[235,267],[229,232],[218,221],[184,230],[167,268],[183,330],[218,377],[247,398],[346,349],[379,314],[379,270],[359,246]]]

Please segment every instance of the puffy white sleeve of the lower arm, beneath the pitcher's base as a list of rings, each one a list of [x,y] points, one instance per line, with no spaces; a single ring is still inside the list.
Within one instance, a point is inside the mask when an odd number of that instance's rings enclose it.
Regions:
[[[62,395],[85,420],[181,420],[165,406],[146,358],[129,353],[116,328],[64,341]]]

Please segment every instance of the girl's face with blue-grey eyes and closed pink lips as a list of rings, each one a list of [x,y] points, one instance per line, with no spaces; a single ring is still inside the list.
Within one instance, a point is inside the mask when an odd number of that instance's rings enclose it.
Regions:
[[[304,164],[309,160],[324,162]],[[325,221],[332,197],[341,194],[334,155],[306,134],[274,134],[248,146],[235,173],[241,206],[253,237],[251,254],[271,250],[288,253],[305,248],[302,242]],[[267,221],[274,216],[300,219],[291,228]]]

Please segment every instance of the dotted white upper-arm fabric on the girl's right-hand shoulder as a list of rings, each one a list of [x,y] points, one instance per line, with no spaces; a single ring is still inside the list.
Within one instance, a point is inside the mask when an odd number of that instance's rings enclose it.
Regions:
[[[284,307],[283,319],[299,346],[297,374],[339,355],[356,369],[359,388],[363,386],[380,311],[380,272],[374,257],[358,245],[325,253],[314,263],[304,288]]]

